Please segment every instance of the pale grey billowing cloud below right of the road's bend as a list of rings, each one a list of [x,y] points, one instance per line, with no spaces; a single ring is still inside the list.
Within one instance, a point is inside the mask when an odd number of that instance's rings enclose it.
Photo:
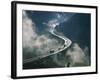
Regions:
[[[66,56],[70,56],[72,64],[81,63],[83,62],[83,58],[85,58],[83,50],[77,43],[74,43],[72,47],[66,52]]]

